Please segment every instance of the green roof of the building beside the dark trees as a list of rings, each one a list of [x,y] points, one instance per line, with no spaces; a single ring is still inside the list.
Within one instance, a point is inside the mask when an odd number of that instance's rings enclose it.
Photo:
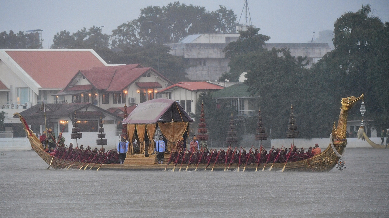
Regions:
[[[214,99],[237,99],[237,98],[259,98],[258,96],[250,96],[247,92],[249,86],[244,83],[237,83],[229,87],[212,93]]]

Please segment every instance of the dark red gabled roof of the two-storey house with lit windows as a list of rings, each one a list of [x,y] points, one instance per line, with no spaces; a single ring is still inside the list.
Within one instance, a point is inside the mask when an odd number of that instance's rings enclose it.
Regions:
[[[165,79],[167,82],[172,83],[151,67],[143,67],[140,64],[93,67],[92,69],[80,70],[79,73],[85,76],[85,78],[91,83],[91,89],[94,87],[98,90],[105,90],[106,92],[119,92],[131,85],[131,83],[148,71],[152,71],[153,73],[158,74],[159,77]],[[77,74],[72,78],[72,80],[70,80],[67,87],[61,92],[67,93],[68,91],[71,91],[73,87],[69,86],[74,84],[76,76]]]

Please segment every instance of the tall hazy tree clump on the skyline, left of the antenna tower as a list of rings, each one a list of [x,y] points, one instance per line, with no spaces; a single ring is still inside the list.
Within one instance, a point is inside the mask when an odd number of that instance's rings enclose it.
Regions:
[[[112,31],[112,46],[126,47],[179,42],[190,34],[235,32],[237,16],[233,10],[209,12],[205,7],[169,3],[166,6],[149,6],[140,10],[138,19],[121,24]]]

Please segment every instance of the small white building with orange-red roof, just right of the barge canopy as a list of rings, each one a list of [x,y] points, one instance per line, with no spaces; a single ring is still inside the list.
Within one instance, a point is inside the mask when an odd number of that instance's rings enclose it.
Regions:
[[[158,92],[159,97],[180,102],[187,113],[196,113],[198,97],[203,92],[214,92],[224,87],[208,81],[179,82]]]

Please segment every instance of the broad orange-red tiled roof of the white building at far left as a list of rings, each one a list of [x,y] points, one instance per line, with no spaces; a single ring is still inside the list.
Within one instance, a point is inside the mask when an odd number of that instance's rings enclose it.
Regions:
[[[65,88],[80,69],[105,64],[89,50],[5,50],[42,88]]]

